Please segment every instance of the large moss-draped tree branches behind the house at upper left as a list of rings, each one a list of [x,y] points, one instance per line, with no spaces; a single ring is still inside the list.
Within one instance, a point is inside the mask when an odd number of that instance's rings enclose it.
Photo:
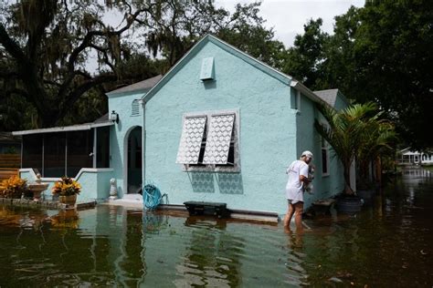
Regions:
[[[281,67],[284,46],[264,27],[259,5],[237,5],[231,15],[198,0],[2,3],[0,113],[7,120],[1,129],[98,118],[106,113],[107,90],[166,72],[206,33]],[[106,15],[123,17],[111,26]],[[95,55],[96,71],[89,71]]]

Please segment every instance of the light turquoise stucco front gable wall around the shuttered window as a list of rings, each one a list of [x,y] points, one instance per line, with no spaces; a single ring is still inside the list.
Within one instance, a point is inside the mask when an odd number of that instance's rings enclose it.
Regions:
[[[199,80],[202,59],[215,57],[216,81]],[[238,109],[240,173],[185,172],[176,164],[186,112]],[[286,211],[288,161],[296,156],[290,87],[207,43],[145,106],[145,180],[169,202],[226,202],[231,209]]]

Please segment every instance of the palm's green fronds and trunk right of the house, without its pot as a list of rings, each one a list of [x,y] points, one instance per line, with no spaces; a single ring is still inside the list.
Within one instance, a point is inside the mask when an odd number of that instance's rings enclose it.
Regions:
[[[315,128],[343,163],[343,192],[353,195],[350,170],[354,159],[371,159],[387,148],[394,128],[390,122],[380,119],[382,112],[378,112],[372,102],[355,104],[341,111],[324,104],[318,108],[327,123],[316,119]]]

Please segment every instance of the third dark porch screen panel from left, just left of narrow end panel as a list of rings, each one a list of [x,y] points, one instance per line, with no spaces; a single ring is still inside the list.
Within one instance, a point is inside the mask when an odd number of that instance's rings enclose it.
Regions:
[[[67,133],[68,157],[66,174],[76,177],[81,168],[92,168],[93,131],[82,130]]]

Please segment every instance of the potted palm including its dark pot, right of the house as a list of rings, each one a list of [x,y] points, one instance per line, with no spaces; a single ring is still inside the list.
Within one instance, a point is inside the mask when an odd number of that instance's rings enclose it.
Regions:
[[[321,136],[333,147],[337,157],[343,164],[344,190],[343,195],[337,200],[337,209],[345,212],[361,210],[363,201],[356,197],[350,183],[350,170],[354,159],[366,155],[365,151],[372,149],[366,139],[375,135],[376,129],[381,127],[381,112],[372,103],[356,104],[336,111],[324,104],[318,106],[327,124],[316,119],[315,128]],[[369,155],[371,157],[371,155]]]

